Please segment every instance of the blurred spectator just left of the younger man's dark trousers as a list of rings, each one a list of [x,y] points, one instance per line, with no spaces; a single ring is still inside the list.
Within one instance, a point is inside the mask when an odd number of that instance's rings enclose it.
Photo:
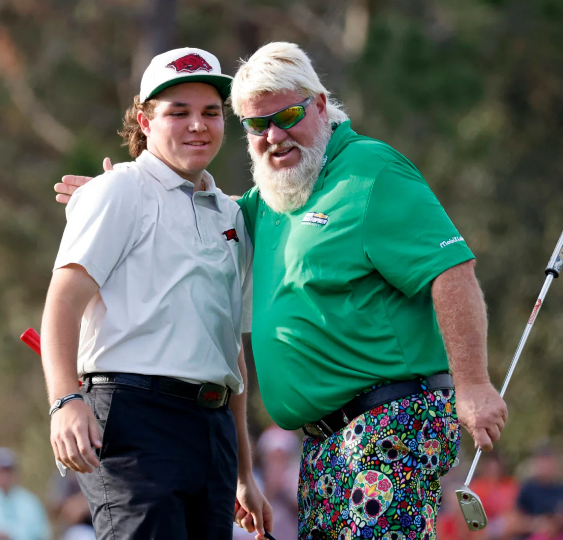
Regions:
[[[61,477],[57,472],[49,485],[49,510],[52,519],[62,529],[61,540],[96,540],[88,501],[72,470]]]

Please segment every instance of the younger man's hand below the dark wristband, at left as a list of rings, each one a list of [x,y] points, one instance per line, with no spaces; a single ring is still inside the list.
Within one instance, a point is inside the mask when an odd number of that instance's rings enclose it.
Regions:
[[[55,458],[77,472],[92,472],[100,462],[92,446],[101,448],[100,432],[92,409],[74,399],[51,417],[51,446]]]

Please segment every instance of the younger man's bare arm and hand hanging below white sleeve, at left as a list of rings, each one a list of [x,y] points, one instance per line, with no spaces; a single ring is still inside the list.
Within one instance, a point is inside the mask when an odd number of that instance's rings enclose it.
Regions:
[[[53,271],[41,323],[41,352],[50,405],[78,392],[77,353],[80,322],[97,283],[83,266],[69,264]],[[51,417],[55,458],[78,472],[92,472],[99,462],[92,446],[101,447],[96,418],[84,401],[75,399]]]

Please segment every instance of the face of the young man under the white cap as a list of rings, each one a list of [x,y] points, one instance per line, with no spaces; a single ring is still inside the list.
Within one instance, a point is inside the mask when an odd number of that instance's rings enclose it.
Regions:
[[[152,119],[142,112],[137,115],[147,149],[196,184],[221,148],[225,131],[221,97],[209,84],[181,83],[160,92],[156,100]]]

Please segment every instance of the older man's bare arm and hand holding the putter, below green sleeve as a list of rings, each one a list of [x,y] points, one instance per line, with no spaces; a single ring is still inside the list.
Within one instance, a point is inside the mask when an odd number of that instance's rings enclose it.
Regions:
[[[432,300],[454,378],[459,422],[475,447],[488,451],[501,436],[506,404],[489,380],[487,315],[475,260],[444,271],[432,283]]]

